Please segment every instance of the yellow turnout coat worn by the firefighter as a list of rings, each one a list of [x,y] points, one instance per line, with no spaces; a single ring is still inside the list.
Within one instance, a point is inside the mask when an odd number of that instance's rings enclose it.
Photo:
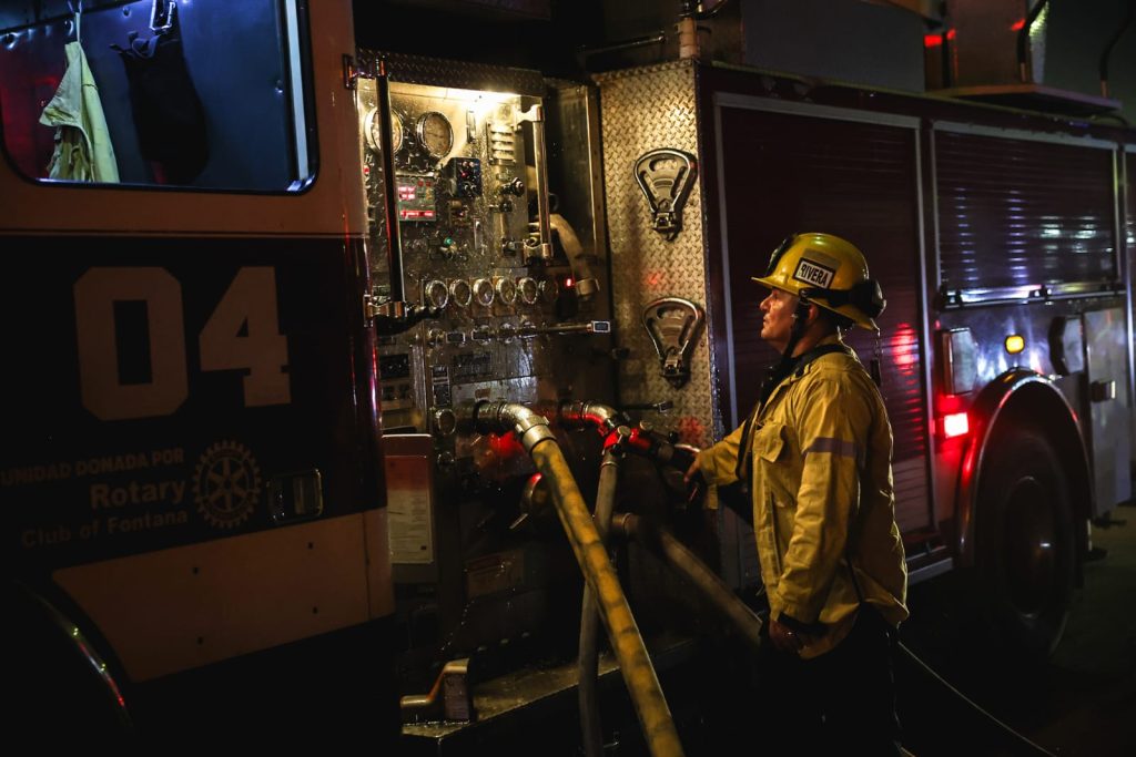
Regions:
[[[832,336],[820,345],[837,344]],[[742,429],[699,454],[717,486],[737,480]],[[784,379],[751,432],[753,528],[770,615],[819,624],[804,658],[844,639],[858,591],[892,624],[907,619],[907,565],[895,524],[892,427],[854,353],[833,352]],[[853,581],[854,573],[854,581]]]

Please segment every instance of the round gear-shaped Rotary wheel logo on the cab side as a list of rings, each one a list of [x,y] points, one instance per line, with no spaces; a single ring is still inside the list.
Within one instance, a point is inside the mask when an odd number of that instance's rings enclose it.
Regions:
[[[224,529],[240,525],[260,498],[260,469],[236,441],[219,441],[202,453],[193,474],[193,499],[206,520]]]

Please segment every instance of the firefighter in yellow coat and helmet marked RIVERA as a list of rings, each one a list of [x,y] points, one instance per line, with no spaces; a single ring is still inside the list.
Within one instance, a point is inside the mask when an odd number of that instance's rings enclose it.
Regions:
[[[795,754],[899,754],[892,648],[908,609],[892,428],[842,340],[853,325],[878,331],[883,293],[860,251],[830,234],[791,236],[753,280],[769,288],[761,338],[780,361],[746,422],[700,452],[686,480],[708,485],[710,507],[729,491],[752,505],[774,730]]]

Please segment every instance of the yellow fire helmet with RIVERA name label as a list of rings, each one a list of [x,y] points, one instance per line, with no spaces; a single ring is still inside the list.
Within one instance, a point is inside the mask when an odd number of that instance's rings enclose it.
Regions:
[[[863,253],[832,234],[794,234],[774,250],[758,284],[783,289],[878,331],[875,319],[887,301],[879,283],[868,276]]]

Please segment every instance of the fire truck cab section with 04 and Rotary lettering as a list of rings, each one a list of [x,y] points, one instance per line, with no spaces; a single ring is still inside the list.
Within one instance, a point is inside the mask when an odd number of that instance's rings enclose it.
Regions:
[[[0,9],[6,616],[44,738],[396,734],[352,39],[339,2]]]

